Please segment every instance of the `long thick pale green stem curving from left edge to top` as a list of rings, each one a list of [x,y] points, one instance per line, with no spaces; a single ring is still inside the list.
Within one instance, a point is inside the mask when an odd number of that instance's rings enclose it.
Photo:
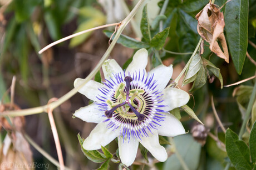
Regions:
[[[97,71],[100,70],[102,64],[104,63],[104,61],[107,59],[107,57],[110,55],[112,49],[114,48],[114,46],[117,42],[117,39],[119,39],[122,31],[124,30],[126,25],[130,22],[132,17],[134,17],[134,15],[139,10],[139,8],[142,6],[142,3],[144,1],[145,0],[140,0],[136,4],[134,9],[132,9],[132,11],[129,13],[129,15],[124,20],[122,20],[121,25],[120,25],[119,29],[116,32],[115,38],[112,40],[112,43],[110,44],[109,48],[107,48],[105,54],[102,56],[99,63],[91,71],[91,73],[85,78],[85,80],[83,81],[83,83],[80,86],[78,86],[78,87],[72,89],[71,91],[67,92],[67,94],[63,95],[62,97],[60,97],[60,99],[58,99],[57,101],[52,102],[49,105],[33,107],[31,109],[23,109],[23,110],[16,110],[16,111],[4,111],[0,114],[0,116],[6,116],[6,115],[8,115],[8,116],[25,116],[25,115],[40,114],[41,112],[47,112],[48,109],[53,110],[56,107],[60,106],[66,100],[70,99],[70,97],[75,95],[77,93],[77,91],[80,90],[89,80],[91,80],[96,75]]]

